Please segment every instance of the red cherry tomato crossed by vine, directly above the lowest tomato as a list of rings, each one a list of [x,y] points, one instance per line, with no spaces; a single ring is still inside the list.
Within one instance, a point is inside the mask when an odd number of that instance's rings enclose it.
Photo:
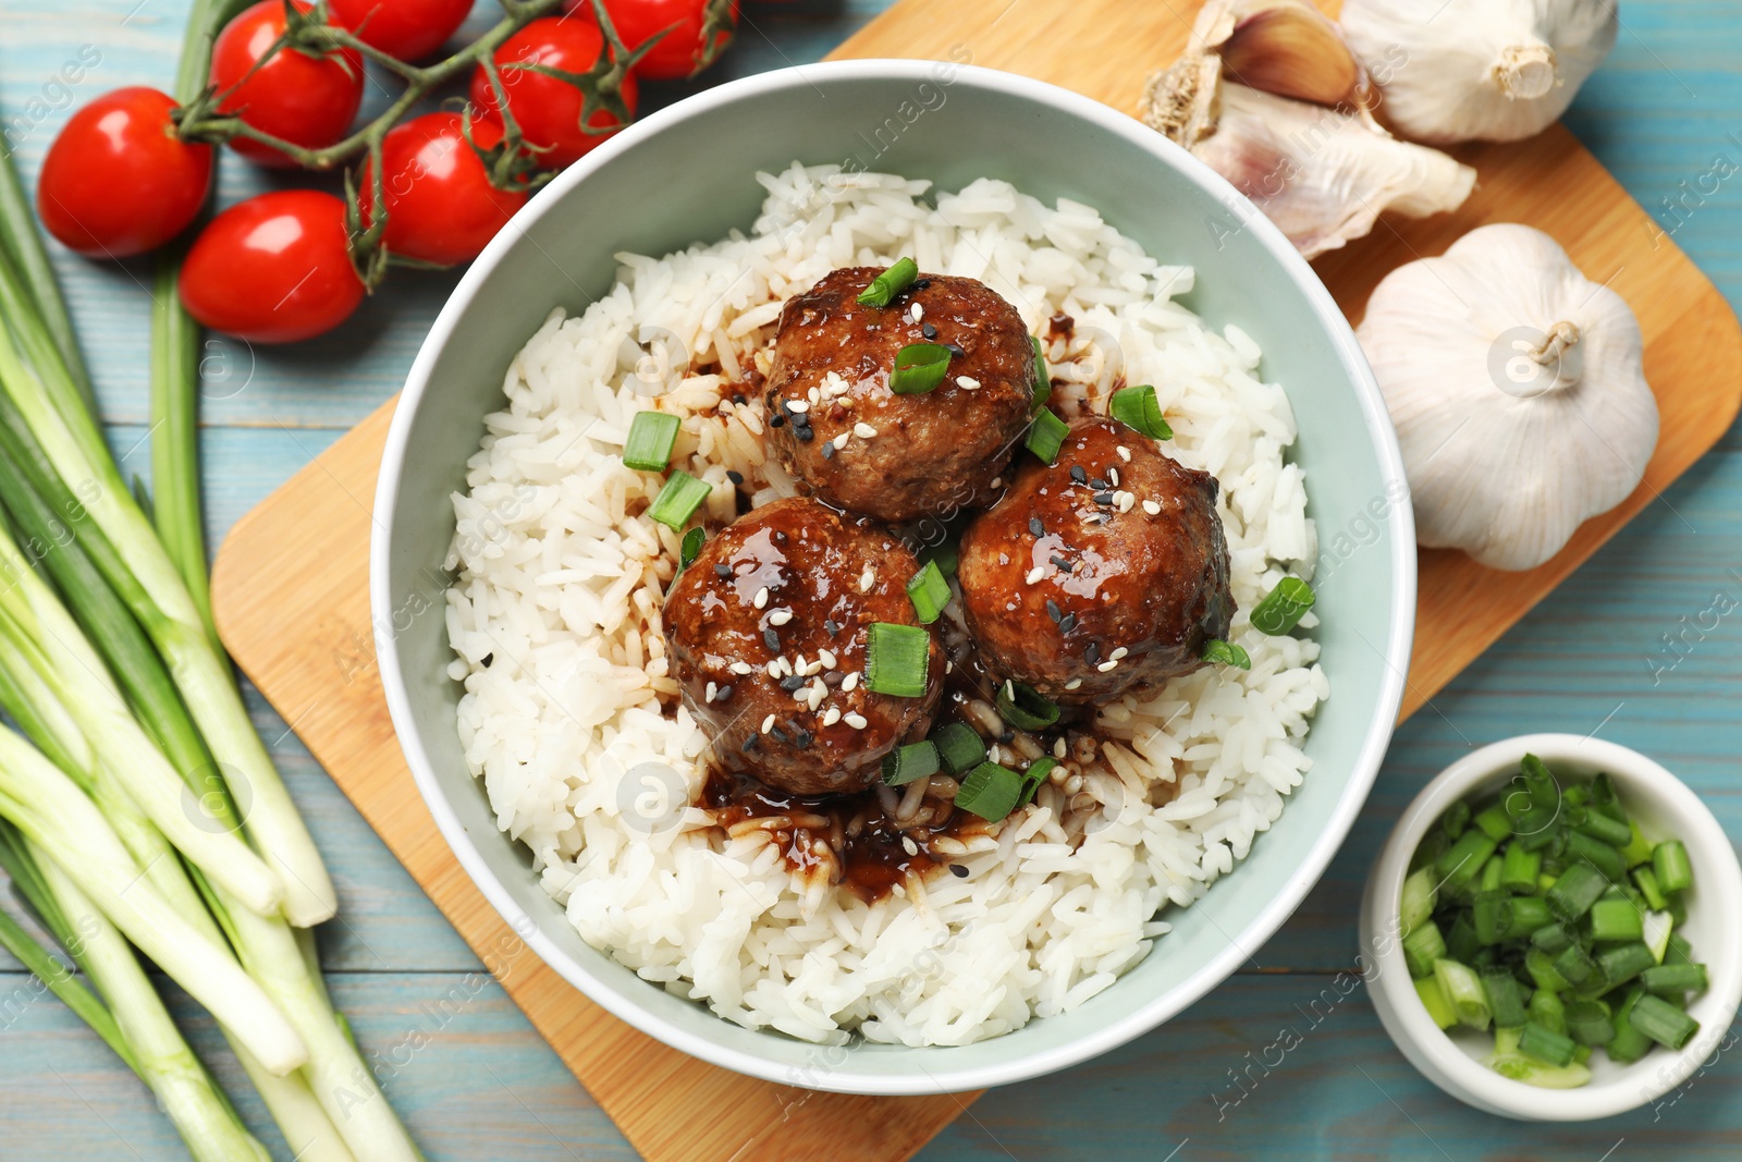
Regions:
[[[294,0],[298,12],[307,12],[307,0]],[[362,57],[343,49],[326,56],[310,56],[300,49],[284,47],[242,80],[254,61],[265,56],[272,42],[284,31],[284,3],[261,0],[225,24],[213,44],[213,84],[218,92],[228,92],[218,106],[219,113],[235,113],[246,124],[270,132],[273,138],[310,150],[333,145],[345,136],[362,105]],[[230,146],[261,166],[294,166],[296,162],[247,138],[232,138]]]

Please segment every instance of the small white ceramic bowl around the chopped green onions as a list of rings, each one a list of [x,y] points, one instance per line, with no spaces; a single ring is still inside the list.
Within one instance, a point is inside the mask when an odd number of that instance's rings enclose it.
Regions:
[[[1519,760],[1535,754],[1559,777],[1589,779],[1608,772],[1629,815],[1653,840],[1679,838],[1693,864],[1688,922],[1678,929],[1707,965],[1711,988],[1688,1014],[1700,1031],[1681,1052],[1653,1047],[1634,1064],[1615,1064],[1603,1052],[1590,1057],[1590,1082],[1580,1089],[1538,1089],[1489,1070],[1493,1037],[1441,1031],[1416,996],[1397,941],[1397,902],[1409,857],[1421,836],[1455,801],[1491,791],[1517,774]],[[1681,1085],[1726,1037],[1742,1002],[1742,868],[1718,821],[1679,779],[1637,751],[1578,735],[1519,735],[1495,742],[1448,767],[1415,798],[1367,876],[1361,901],[1361,948],[1367,995],[1380,1023],[1421,1073],[1453,1098],[1477,1110],[1526,1122],[1583,1122],[1646,1105]],[[1456,1028],[1451,1033],[1458,1033]]]

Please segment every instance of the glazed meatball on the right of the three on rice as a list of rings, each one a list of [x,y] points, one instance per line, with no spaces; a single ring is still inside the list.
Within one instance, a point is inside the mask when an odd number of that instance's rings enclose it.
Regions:
[[[1192,672],[1235,608],[1216,477],[1104,416],[969,524],[958,580],[982,665],[1061,706]]]

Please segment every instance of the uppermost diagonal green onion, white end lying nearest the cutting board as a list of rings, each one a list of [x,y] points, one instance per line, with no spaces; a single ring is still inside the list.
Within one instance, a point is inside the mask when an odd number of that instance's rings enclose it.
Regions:
[[[247,834],[284,885],[284,915],[298,927],[338,909],[333,882],[308,828],[247,718],[228,659],[150,519],[122,481],[103,434],[10,263],[0,258],[0,388],[40,458],[21,463],[38,491],[89,521],[77,538],[162,655],[218,770],[242,782],[251,810]]]

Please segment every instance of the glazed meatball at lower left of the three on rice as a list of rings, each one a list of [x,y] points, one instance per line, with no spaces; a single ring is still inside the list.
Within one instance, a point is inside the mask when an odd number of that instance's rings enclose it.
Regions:
[[[665,641],[716,761],[834,794],[871,786],[885,754],[923,739],[944,676],[935,634],[923,697],[873,693],[862,672],[873,622],[916,624],[918,568],[887,530],[801,497],[709,540],[665,598]]]

